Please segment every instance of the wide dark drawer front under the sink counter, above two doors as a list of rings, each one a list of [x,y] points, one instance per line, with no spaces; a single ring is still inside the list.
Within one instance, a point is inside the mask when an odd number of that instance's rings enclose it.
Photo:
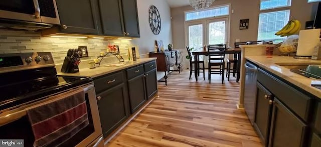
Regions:
[[[258,69],[257,80],[269,89],[280,101],[282,101],[293,112],[307,121],[311,98],[294,89],[288,84],[280,81],[269,73]]]

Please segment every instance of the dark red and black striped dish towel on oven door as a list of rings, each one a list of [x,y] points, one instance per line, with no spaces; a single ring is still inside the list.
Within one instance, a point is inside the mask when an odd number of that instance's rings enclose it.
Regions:
[[[58,95],[26,110],[35,136],[34,146],[59,146],[89,123],[83,90]]]

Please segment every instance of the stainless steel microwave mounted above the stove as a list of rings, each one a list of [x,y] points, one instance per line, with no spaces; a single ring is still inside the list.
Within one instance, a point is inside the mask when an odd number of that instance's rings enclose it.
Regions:
[[[6,0],[0,3],[0,26],[34,26],[35,28],[60,25],[56,0]],[[12,22],[11,22],[12,21]],[[7,24],[7,25],[4,25]],[[8,27],[7,27],[8,28]],[[18,27],[19,28],[19,27]],[[22,28],[23,29],[23,28]],[[29,30],[27,28],[27,30]],[[37,30],[37,29],[35,29]]]

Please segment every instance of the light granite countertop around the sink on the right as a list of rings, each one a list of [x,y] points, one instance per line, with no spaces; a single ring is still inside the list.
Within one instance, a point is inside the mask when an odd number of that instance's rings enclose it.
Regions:
[[[272,56],[267,58],[266,56],[246,56],[247,60],[257,64],[261,68],[270,71],[271,73],[283,78],[284,80],[304,89],[305,91],[321,98],[321,90],[311,86],[311,82],[316,79],[304,77],[302,75],[291,72],[290,69],[281,65],[307,65],[307,64],[319,64],[320,60],[305,60],[294,59],[293,57],[285,56]]]

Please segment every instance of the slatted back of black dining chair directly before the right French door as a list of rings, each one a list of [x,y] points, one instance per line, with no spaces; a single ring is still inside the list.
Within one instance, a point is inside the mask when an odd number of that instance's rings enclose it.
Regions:
[[[226,44],[208,45],[209,62],[224,63]]]

